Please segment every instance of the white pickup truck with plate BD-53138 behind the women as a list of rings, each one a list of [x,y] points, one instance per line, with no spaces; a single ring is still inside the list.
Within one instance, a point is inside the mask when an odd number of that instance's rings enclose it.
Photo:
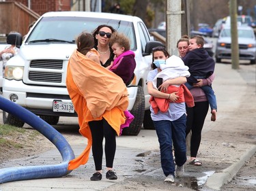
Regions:
[[[152,127],[150,95],[145,81],[152,64],[152,48],[162,45],[152,41],[143,21],[135,16],[99,12],[48,12],[27,34],[19,53],[8,60],[3,78],[2,96],[57,124],[60,116],[76,116],[66,89],[68,59],[76,48],[75,37],[91,33],[100,24],[109,24],[130,39],[137,67],[135,80],[128,86],[129,107],[134,121],[124,128],[124,135],[138,135]],[[145,120],[144,120],[145,119]],[[24,122],[3,111],[3,122],[22,127]]]

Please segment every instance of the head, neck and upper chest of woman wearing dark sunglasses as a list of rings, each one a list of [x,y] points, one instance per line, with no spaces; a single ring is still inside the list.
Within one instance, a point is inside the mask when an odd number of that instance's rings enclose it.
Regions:
[[[98,26],[92,33],[94,37],[94,48],[100,54],[100,64],[103,67],[108,67],[111,65],[115,56],[113,50],[109,46],[109,39],[114,32],[115,29],[113,29],[113,27],[102,24]]]

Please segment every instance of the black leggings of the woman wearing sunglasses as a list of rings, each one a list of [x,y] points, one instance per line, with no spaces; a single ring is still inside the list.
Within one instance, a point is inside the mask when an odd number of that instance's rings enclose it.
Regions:
[[[96,171],[102,170],[103,156],[103,138],[105,137],[105,156],[106,167],[113,168],[115,158],[115,130],[109,125],[104,118],[100,121],[89,122],[92,137],[92,154],[94,156],[94,164]]]

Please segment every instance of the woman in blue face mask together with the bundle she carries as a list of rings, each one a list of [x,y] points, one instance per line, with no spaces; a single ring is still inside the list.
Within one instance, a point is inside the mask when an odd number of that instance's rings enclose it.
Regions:
[[[165,182],[173,184],[175,176],[183,175],[186,162],[186,95],[184,93],[186,86],[184,83],[186,83],[185,76],[190,74],[182,60],[178,56],[170,56],[165,47],[153,48],[152,55],[153,70],[147,75],[147,91],[152,96],[150,111],[160,144],[161,166],[166,177]],[[180,60],[177,60],[176,57]],[[170,62],[173,59],[180,62],[177,67],[183,69],[184,75],[182,76],[178,70],[174,70],[177,75],[171,78],[164,77],[167,76],[167,73],[163,74],[162,71],[167,68],[173,69],[173,66],[176,68],[176,62]],[[156,85],[156,81],[158,81],[156,78],[158,80],[162,78],[162,84],[158,84],[159,86]],[[193,97],[189,91],[188,94],[190,103],[193,103]],[[162,104],[157,104],[159,99],[164,99],[167,103],[164,110],[161,108]],[[155,107],[156,105],[159,107]],[[172,154],[173,146],[175,147],[176,169]]]

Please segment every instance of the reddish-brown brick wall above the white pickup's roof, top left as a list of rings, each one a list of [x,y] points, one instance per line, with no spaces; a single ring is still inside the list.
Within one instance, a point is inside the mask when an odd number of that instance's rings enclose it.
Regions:
[[[16,0],[28,6],[27,0]],[[30,0],[31,10],[42,15],[46,12],[70,11],[71,0]]]

